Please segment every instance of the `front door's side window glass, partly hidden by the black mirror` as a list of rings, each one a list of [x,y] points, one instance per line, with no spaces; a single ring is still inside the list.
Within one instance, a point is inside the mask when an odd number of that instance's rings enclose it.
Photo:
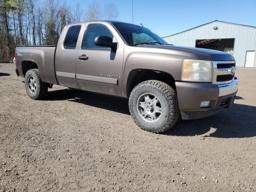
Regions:
[[[99,36],[108,36],[112,39],[114,37],[110,30],[102,24],[88,25],[84,34],[82,49],[110,49],[109,47],[101,47],[94,44],[94,39]]]

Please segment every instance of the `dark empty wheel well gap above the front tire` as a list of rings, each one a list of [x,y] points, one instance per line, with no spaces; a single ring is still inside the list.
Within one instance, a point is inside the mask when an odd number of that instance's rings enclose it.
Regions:
[[[176,91],[175,80],[173,76],[169,73],[149,70],[149,69],[134,69],[130,72],[127,80],[126,94],[127,97],[130,96],[132,89],[139,83],[147,80],[159,80],[169,86],[171,86]]]

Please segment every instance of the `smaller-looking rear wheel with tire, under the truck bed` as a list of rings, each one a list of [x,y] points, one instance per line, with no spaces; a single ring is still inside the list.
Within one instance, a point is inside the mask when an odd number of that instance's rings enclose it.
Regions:
[[[26,72],[25,88],[28,96],[34,100],[43,99],[48,92],[48,84],[42,82],[38,69],[30,69]]]

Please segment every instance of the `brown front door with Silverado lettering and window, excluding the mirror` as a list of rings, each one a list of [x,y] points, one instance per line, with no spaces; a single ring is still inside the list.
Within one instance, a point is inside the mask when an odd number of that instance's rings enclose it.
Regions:
[[[85,26],[76,53],[76,79],[80,89],[122,96],[124,42],[111,24],[92,23]],[[98,36],[118,42],[116,51],[94,44]]]

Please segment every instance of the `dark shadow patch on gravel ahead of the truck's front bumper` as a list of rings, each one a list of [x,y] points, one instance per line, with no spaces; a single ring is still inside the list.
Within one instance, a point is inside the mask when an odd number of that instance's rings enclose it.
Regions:
[[[165,135],[216,138],[248,138],[256,136],[256,107],[234,104],[232,108],[207,118],[181,120]]]

